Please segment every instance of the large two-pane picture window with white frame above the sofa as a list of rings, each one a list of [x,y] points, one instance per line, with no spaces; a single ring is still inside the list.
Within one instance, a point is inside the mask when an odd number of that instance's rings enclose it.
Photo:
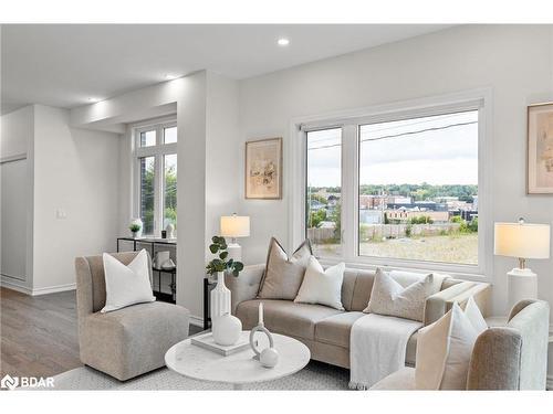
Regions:
[[[301,124],[305,187],[293,211],[303,212],[314,254],[483,274],[483,105]]]

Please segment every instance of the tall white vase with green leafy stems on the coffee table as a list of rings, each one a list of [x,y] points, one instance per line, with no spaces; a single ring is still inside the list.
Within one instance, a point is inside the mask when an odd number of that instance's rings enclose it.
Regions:
[[[232,274],[238,277],[240,272],[243,269],[243,264],[241,262],[229,258],[229,252],[227,246],[227,241],[221,236],[213,236],[211,238],[211,244],[209,245],[209,251],[217,255],[211,262],[206,266],[208,275],[217,275],[217,286],[211,290],[211,320],[213,326],[213,337],[217,343],[220,343],[220,337],[225,335],[219,335],[223,331],[241,330],[237,328],[237,321],[234,317],[230,315],[230,290],[225,286],[225,275],[227,273]],[[229,326],[233,326],[231,329]],[[231,336],[234,337],[234,336]],[[236,339],[236,338],[231,338]],[[222,342],[221,342],[222,343]],[[226,343],[229,344],[229,343]]]

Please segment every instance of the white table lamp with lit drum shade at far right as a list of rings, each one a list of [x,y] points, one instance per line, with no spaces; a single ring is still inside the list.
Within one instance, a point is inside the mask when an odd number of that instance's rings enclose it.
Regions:
[[[550,225],[495,223],[493,253],[519,258],[519,267],[509,272],[507,289],[509,309],[522,299],[538,298],[538,277],[526,267],[528,258],[550,257]]]

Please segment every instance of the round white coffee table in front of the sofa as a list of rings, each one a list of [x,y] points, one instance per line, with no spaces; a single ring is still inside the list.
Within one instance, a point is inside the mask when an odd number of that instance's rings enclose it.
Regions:
[[[279,362],[274,368],[262,367],[252,358],[251,348],[223,357],[190,343],[190,339],[173,346],[165,354],[165,363],[170,370],[181,375],[199,381],[232,384],[234,390],[241,390],[248,383],[291,375],[307,364],[311,359],[307,347],[283,335],[273,333],[272,336],[274,348],[279,352]],[[268,343],[264,336],[259,336],[259,349],[268,347]]]

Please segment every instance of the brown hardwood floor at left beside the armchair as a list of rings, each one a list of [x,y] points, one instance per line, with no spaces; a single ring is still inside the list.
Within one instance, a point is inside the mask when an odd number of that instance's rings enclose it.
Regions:
[[[0,287],[0,378],[81,367],[75,291],[28,296]],[[190,326],[190,335],[201,329]]]

